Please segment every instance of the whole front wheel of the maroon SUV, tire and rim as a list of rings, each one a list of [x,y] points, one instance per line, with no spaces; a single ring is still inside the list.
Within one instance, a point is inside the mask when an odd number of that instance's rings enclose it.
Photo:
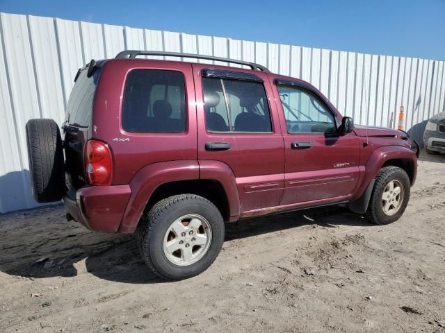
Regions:
[[[411,182],[399,167],[380,169],[365,217],[375,224],[389,224],[401,218],[410,200]]]

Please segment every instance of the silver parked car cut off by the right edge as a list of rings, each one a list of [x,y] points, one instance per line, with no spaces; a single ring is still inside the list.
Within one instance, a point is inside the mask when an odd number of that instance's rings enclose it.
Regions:
[[[428,120],[423,132],[423,144],[428,154],[445,153],[445,111]]]

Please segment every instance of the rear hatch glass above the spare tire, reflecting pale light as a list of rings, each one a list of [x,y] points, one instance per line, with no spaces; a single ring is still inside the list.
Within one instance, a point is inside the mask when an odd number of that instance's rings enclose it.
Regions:
[[[90,78],[86,76],[86,69],[79,74],[72,88],[70,99],[68,99],[65,113],[65,121],[71,125],[79,127],[90,126],[92,101],[95,96],[99,72],[99,69],[96,69]]]

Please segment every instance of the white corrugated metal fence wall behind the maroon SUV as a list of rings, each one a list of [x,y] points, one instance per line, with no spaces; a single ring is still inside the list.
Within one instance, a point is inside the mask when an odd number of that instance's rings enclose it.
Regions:
[[[77,69],[124,49],[200,53],[265,65],[307,80],[355,123],[390,126],[405,106],[405,129],[419,139],[444,110],[444,61],[232,40],[170,31],[0,14],[0,212],[35,207],[24,126],[60,124]],[[202,62],[209,62],[202,60]]]

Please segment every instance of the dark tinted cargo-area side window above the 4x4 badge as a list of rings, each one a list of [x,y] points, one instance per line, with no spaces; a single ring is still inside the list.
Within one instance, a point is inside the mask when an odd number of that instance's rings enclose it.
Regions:
[[[179,71],[133,69],[124,88],[124,130],[183,133],[186,130],[184,87],[184,76]]]

